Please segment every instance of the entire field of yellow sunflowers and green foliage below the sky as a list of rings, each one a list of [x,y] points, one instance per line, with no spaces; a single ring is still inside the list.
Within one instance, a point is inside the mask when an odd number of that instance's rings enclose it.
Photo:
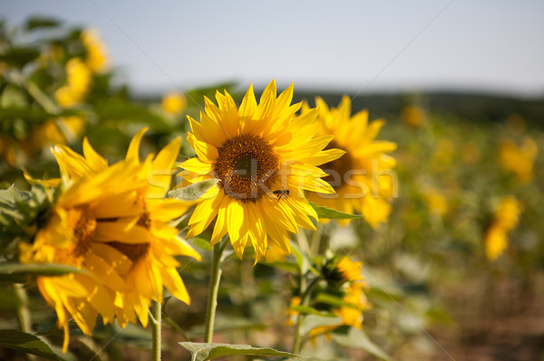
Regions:
[[[543,117],[136,97],[97,32],[0,23],[0,358],[542,359]]]

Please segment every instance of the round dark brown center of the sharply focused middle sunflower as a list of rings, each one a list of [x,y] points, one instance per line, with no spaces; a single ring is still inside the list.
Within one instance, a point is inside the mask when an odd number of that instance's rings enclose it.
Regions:
[[[240,135],[218,149],[214,172],[225,194],[242,202],[256,202],[267,194],[277,176],[279,162],[263,138]]]

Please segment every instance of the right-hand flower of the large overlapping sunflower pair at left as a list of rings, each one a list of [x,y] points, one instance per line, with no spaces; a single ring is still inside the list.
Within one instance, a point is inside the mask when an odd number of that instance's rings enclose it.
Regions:
[[[141,129],[132,138],[126,160],[133,166],[140,164],[138,153],[141,138],[146,130],[147,128]],[[147,234],[137,241],[116,240],[108,243],[132,261],[131,269],[123,274],[128,287],[118,292],[115,300],[117,320],[121,327],[129,321],[134,321],[134,313],[146,327],[151,299],[162,302],[163,286],[177,299],[190,303],[189,294],[176,270],[180,267],[180,262],[176,261],[174,256],[189,256],[200,260],[200,255],[189,243],[180,238],[178,229],[168,223],[185,214],[192,203],[164,199],[164,195],[170,189],[172,168],[179,153],[180,138],[176,138],[160,150],[157,157],[152,160],[152,156],[148,157],[136,175],[146,181],[146,186],[138,192],[138,201],[143,212],[139,214],[137,224],[144,228]]]

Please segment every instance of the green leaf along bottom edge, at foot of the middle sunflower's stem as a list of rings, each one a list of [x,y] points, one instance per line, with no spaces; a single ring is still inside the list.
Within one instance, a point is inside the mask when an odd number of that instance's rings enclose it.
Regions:
[[[217,357],[234,355],[304,357],[277,351],[274,348],[252,347],[249,345],[200,344],[196,342],[180,342],[180,345],[190,352],[191,361],[206,361]]]

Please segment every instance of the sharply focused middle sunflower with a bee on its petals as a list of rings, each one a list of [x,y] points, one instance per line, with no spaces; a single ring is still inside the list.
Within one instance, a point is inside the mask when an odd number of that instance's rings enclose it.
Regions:
[[[278,97],[276,91],[270,82],[257,104],[249,86],[239,109],[227,91],[218,91],[217,106],[205,99],[200,122],[189,117],[189,144],[198,157],[180,165],[182,176],[189,183],[212,177],[219,183],[201,197],[188,238],[216,219],[211,244],[228,233],[238,257],[249,242],[258,261],[268,246],[290,252],[288,233],[299,226],[315,229],[309,216],[317,214],[303,189],[334,193],[317,166],[344,152],[323,150],[333,136],[316,137],[316,109],[295,116],[301,104],[291,105],[292,85]]]

